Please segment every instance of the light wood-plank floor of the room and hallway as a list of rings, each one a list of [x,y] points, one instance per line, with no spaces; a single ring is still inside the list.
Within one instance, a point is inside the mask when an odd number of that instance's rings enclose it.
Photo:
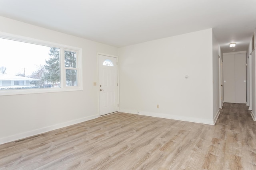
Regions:
[[[245,104],[215,126],[114,113],[0,145],[0,169],[256,170],[256,122]]]

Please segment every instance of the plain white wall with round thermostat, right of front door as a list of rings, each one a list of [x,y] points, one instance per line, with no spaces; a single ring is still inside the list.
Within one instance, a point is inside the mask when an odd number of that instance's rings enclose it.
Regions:
[[[212,47],[206,29],[120,48],[120,111],[213,124]]]

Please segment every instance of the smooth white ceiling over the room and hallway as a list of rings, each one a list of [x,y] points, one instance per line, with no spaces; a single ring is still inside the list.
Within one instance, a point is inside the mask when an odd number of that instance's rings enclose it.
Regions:
[[[0,0],[0,16],[116,47],[213,28],[246,51],[256,0]]]

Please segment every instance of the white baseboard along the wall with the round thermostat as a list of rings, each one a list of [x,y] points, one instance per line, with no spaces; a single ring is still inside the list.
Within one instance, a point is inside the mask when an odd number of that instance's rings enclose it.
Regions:
[[[186,116],[178,116],[178,115],[169,115],[165,113],[152,113],[152,112],[146,112],[146,111],[135,111],[135,110],[125,110],[125,109],[120,109],[120,112],[214,125],[214,122],[212,120],[200,119],[195,117],[186,117]]]

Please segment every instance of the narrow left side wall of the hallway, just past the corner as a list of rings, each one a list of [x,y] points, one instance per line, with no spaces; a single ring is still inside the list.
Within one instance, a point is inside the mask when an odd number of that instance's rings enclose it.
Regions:
[[[220,45],[214,35],[212,33],[212,113],[213,113],[213,119],[214,123],[218,118],[218,115],[220,113],[220,60],[219,56],[222,57],[222,53],[220,50]]]

